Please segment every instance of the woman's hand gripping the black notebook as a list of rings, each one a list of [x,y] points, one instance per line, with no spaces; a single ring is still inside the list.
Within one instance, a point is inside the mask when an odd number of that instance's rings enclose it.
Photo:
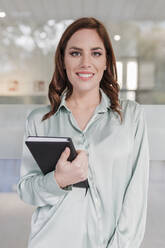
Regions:
[[[67,161],[69,155],[70,148],[66,147],[56,164],[54,172],[56,182],[61,188],[84,181],[88,177],[88,156],[86,151],[77,150],[77,156],[72,162]]]

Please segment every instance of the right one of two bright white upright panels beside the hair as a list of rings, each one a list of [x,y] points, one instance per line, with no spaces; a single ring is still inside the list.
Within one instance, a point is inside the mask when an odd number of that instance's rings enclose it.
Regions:
[[[137,89],[137,73],[138,65],[136,61],[130,61],[127,63],[127,89]]]

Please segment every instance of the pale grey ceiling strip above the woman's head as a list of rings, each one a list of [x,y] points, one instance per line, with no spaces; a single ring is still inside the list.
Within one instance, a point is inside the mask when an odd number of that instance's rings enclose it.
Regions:
[[[94,16],[104,22],[164,21],[164,0],[0,0],[0,26],[18,23],[43,25],[49,19],[75,19]]]

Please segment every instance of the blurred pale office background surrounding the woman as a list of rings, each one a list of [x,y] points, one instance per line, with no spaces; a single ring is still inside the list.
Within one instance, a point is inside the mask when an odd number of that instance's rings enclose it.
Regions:
[[[0,0],[0,247],[27,247],[34,208],[16,194],[25,119],[49,103],[56,46],[83,16],[98,18],[109,32],[120,97],[144,107],[150,184],[142,248],[165,247],[164,10],[163,0]]]

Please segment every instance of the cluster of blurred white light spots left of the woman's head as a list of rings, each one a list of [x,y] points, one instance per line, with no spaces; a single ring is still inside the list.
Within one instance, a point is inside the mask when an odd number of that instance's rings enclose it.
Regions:
[[[3,44],[7,46],[14,42],[28,52],[38,47],[43,54],[47,54],[56,49],[62,33],[72,22],[73,20],[62,20],[57,23],[55,20],[48,20],[36,29],[24,24],[8,26],[2,34]]]

